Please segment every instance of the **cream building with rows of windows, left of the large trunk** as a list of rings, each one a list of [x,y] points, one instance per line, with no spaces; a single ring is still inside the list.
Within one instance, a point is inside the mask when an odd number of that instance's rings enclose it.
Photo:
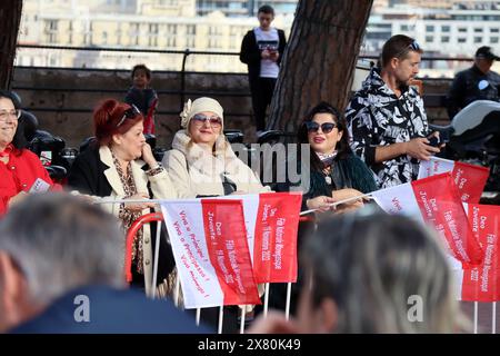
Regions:
[[[274,23],[289,34],[292,21],[293,14],[286,18],[277,13]],[[222,11],[197,16],[196,0],[92,0],[84,3],[26,0],[19,43],[236,53],[244,33],[256,26],[256,17],[229,17]],[[180,70],[182,53],[21,48],[16,63],[128,69],[137,62],[156,70]],[[187,70],[244,72],[247,69],[238,56],[192,55],[188,57]]]

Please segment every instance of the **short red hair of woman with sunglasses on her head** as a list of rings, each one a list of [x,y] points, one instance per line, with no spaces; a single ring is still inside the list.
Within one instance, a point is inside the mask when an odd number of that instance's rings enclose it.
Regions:
[[[107,99],[93,110],[93,129],[99,146],[109,145],[113,135],[124,135],[136,123],[144,119],[142,113],[138,113],[120,123],[124,112],[129,109],[130,105],[128,103]],[[118,126],[119,123],[120,126]]]

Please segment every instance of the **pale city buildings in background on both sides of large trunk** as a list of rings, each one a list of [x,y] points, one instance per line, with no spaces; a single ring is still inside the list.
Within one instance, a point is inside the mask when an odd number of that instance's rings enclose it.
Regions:
[[[244,33],[258,26],[257,9],[276,9],[274,24],[287,37],[297,0],[24,0],[20,44],[90,47],[96,51],[18,50],[17,66],[180,70],[182,53],[111,52],[99,48],[210,52],[240,50]],[[362,55],[378,56],[396,33],[416,38],[424,56],[471,57],[480,46],[500,52],[500,1],[374,0]],[[469,63],[422,63],[422,75],[452,77]],[[187,70],[246,72],[238,56],[190,55]]]

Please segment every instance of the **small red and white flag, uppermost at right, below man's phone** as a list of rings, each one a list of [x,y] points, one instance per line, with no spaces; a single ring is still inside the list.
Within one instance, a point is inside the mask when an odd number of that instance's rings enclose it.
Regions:
[[[479,202],[482,190],[490,175],[490,169],[477,165],[431,157],[420,161],[418,179],[451,171],[453,181],[463,202]]]

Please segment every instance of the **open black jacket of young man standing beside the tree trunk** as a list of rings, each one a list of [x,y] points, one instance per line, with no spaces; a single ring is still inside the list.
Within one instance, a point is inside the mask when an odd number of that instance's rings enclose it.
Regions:
[[[287,46],[287,39],[284,38],[283,30],[277,30],[279,38],[278,52],[280,53],[277,63],[279,66],[281,62],[281,58],[283,57],[284,47]],[[253,32],[253,30],[248,31],[243,37],[243,41],[241,42],[240,60],[243,63],[248,65],[248,79],[250,82],[250,88],[252,88],[256,81],[259,79],[261,61],[260,50],[257,46],[256,33]]]

